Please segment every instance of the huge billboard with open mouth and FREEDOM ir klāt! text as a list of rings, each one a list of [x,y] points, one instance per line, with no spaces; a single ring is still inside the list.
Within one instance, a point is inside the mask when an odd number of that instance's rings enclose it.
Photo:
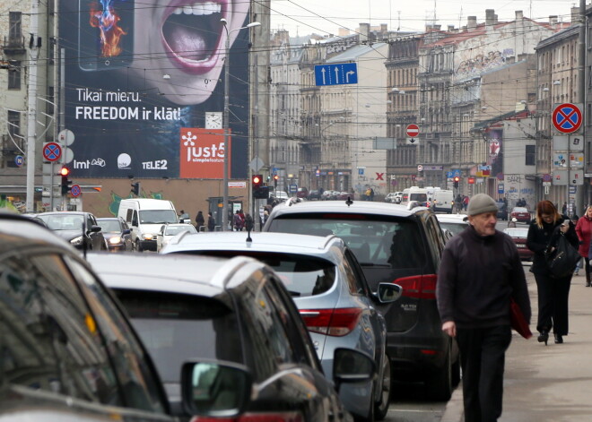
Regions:
[[[75,177],[231,178],[248,166],[248,2],[60,0],[62,128]],[[226,20],[226,27],[222,24]],[[215,116],[208,118],[205,116]]]

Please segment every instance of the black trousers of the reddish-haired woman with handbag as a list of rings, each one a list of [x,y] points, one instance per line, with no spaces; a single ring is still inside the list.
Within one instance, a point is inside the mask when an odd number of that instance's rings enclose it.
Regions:
[[[535,274],[538,290],[538,332],[567,335],[569,330],[568,299],[570,297],[571,274],[555,279],[546,274]]]

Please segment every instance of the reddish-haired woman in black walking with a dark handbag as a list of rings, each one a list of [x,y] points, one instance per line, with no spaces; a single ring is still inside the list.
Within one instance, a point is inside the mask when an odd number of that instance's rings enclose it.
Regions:
[[[538,290],[536,330],[539,332],[538,341],[545,345],[552,328],[555,343],[562,343],[563,336],[568,334],[568,297],[572,274],[553,277],[544,257],[547,249],[551,252],[557,245],[560,236],[567,237],[571,245],[578,247],[578,235],[570,219],[557,212],[553,202],[538,202],[535,219],[528,228],[527,247],[535,253],[530,271],[535,274]]]

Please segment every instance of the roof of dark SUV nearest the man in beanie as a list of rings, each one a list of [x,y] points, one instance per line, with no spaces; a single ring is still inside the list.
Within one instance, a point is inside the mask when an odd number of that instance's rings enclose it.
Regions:
[[[348,214],[379,214],[397,217],[409,217],[418,211],[425,210],[425,207],[415,207],[412,210],[407,209],[406,205],[386,202],[370,201],[352,201],[348,206],[346,201],[326,201],[326,202],[294,202],[287,201],[274,207],[271,217],[278,215],[296,214],[303,212],[339,212]]]

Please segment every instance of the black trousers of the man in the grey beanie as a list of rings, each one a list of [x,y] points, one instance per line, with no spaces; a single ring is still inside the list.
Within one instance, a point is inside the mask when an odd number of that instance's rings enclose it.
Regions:
[[[495,422],[500,418],[505,354],[511,340],[509,325],[457,329],[465,422]]]

